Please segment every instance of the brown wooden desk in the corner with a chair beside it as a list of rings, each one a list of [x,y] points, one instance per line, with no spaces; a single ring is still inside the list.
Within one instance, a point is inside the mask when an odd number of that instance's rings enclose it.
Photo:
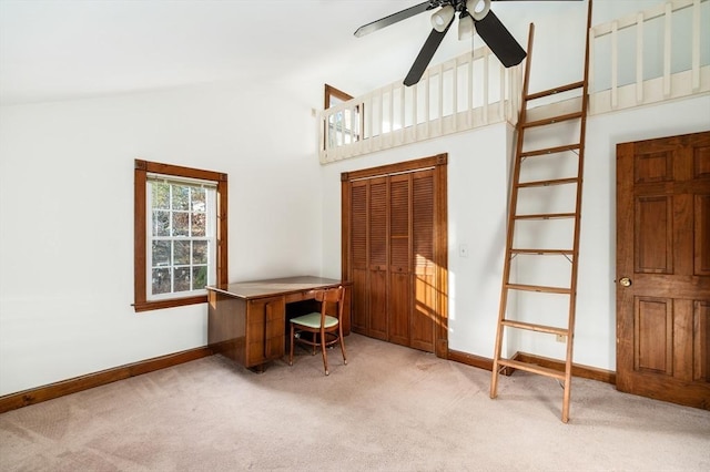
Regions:
[[[301,276],[207,287],[207,342],[215,352],[246,368],[263,369],[286,349],[288,318],[316,311],[312,290],[345,287],[343,334],[351,330],[351,285]]]

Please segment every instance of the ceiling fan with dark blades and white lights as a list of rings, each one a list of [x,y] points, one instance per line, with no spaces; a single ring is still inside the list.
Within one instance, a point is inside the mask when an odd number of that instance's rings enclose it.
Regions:
[[[424,74],[427,65],[429,65],[429,61],[442,43],[446,32],[452,23],[454,23],[456,13],[458,13],[459,40],[471,37],[474,31],[476,31],[504,66],[510,68],[517,65],[525,59],[526,52],[500,20],[498,20],[498,17],[490,11],[490,2],[491,0],[428,0],[362,25],[355,31],[355,35],[358,38],[363,37],[398,21],[406,20],[415,14],[440,7],[440,9],[432,16],[432,25],[434,29],[422,47],[414,64],[412,64],[412,69],[404,80],[405,85],[409,86],[419,82],[422,74]]]

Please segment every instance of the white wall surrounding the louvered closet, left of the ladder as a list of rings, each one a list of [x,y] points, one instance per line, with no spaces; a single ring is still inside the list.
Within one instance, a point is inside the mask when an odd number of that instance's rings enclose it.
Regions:
[[[449,347],[488,357],[495,341],[506,239],[508,141],[508,125],[498,124],[341,161],[323,172],[324,214],[339,218],[341,173],[448,154]],[[332,277],[341,275],[339,229],[323,226],[323,260]],[[467,257],[459,255],[462,245],[468,248]]]

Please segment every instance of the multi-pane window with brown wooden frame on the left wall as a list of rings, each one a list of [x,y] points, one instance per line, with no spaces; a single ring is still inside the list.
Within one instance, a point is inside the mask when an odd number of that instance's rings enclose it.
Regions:
[[[135,160],[136,311],[206,302],[226,283],[226,174]]]

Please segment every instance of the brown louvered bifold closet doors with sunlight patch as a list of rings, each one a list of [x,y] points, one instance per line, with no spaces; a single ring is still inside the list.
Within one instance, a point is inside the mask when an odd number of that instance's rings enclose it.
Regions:
[[[434,172],[351,186],[353,329],[434,352]]]

